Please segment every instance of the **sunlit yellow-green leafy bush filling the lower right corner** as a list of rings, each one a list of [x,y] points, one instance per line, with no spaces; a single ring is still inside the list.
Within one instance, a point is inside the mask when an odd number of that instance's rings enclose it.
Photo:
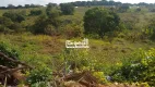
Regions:
[[[130,58],[126,58],[122,63],[118,63],[111,76],[116,82],[146,82],[153,86],[155,82],[154,64],[155,49],[147,52],[141,49]]]

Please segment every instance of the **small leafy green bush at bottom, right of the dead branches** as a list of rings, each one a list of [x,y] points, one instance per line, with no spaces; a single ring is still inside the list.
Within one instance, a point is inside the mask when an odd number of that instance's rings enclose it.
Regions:
[[[44,63],[40,63],[39,67],[29,72],[27,83],[33,85],[40,82],[48,82],[51,79],[51,77],[52,77],[51,70]]]

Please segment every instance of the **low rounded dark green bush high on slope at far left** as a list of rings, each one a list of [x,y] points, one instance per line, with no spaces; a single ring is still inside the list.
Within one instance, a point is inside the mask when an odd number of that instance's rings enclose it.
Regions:
[[[10,18],[12,22],[21,23],[22,21],[25,21],[25,17],[22,14],[15,12],[5,12],[3,13],[3,16]]]

